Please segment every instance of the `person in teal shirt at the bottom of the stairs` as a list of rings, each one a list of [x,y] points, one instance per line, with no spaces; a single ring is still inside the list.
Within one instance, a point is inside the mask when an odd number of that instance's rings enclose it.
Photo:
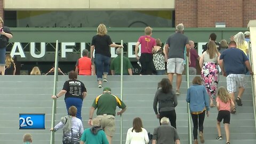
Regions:
[[[102,143],[108,144],[108,139],[106,137],[105,132],[102,130],[100,126],[100,121],[98,118],[92,119],[92,127],[84,130],[80,144],[95,144]]]

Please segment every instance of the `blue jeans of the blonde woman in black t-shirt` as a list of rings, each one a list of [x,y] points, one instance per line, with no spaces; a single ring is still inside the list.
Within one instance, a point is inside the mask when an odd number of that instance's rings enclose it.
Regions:
[[[109,65],[110,65],[110,57],[107,57],[102,54],[95,53],[95,65],[96,65],[96,75],[98,81],[102,81],[102,74],[108,74]]]

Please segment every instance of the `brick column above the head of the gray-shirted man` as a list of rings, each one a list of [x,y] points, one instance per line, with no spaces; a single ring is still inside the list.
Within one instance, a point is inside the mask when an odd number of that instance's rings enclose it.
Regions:
[[[175,26],[197,27],[197,0],[175,0]]]

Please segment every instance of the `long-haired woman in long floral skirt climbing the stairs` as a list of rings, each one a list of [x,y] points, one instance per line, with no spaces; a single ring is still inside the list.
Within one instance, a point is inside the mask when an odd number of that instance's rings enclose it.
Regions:
[[[210,41],[207,45],[207,50],[200,57],[199,65],[202,69],[201,76],[203,85],[206,87],[207,93],[210,96],[210,106],[214,107],[213,100],[215,99],[216,90],[219,83],[218,62],[220,53],[214,42]]]

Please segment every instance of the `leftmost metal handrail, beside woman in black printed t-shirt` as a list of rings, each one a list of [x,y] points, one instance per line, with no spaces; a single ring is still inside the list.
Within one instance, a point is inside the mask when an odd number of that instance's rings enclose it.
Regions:
[[[54,80],[53,80],[53,95],[56,95],[56,89],[57,89],[57,76],[58,76],[58,49],[59,49],[59,43],[58,40],[56,41],[56,49],[55,49],[55,64],[54,64]],[[56,101],[57,99],[52,100],[52,123],[51,127],[54,127],[54,120],[55,120],[55,114],[56,114]],[[54,131],[51,131],[51,144],[54,144]]]

